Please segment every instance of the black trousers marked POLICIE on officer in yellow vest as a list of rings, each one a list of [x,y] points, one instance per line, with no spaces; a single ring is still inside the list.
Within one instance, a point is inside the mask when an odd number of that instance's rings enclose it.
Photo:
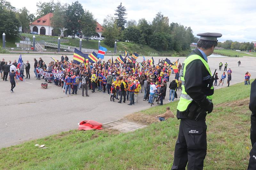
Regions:
[[[204,167],[206,156],[205,120],[181,119],[179,136],[175,145],[174,160],[172,169],[185,170],[188,163],[188,170],[200,170]]]

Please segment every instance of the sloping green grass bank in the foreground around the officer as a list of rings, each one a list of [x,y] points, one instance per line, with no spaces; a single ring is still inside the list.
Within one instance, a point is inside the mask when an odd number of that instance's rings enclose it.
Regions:
[[[235,92],[235,93],[234,93]],[[246,169],[249,159],[250,86],[239,83],[214,93],[214,110],[206,117],[206,170]],[[233,104],[217,105],[225,102]],[[142,110],[156,116],[170,106],[168,103]],[[241,103],[241,102],[240,102]],[[150,124],[130,133],[101,131],[68,131],[0,150],[0,169],[171,169],[180,121],[169,119]],[[45,144],[39,149],[35,144]],[[246,160],[246,161],[244,161]],[[216,162],[215,162],[216,161]]]

